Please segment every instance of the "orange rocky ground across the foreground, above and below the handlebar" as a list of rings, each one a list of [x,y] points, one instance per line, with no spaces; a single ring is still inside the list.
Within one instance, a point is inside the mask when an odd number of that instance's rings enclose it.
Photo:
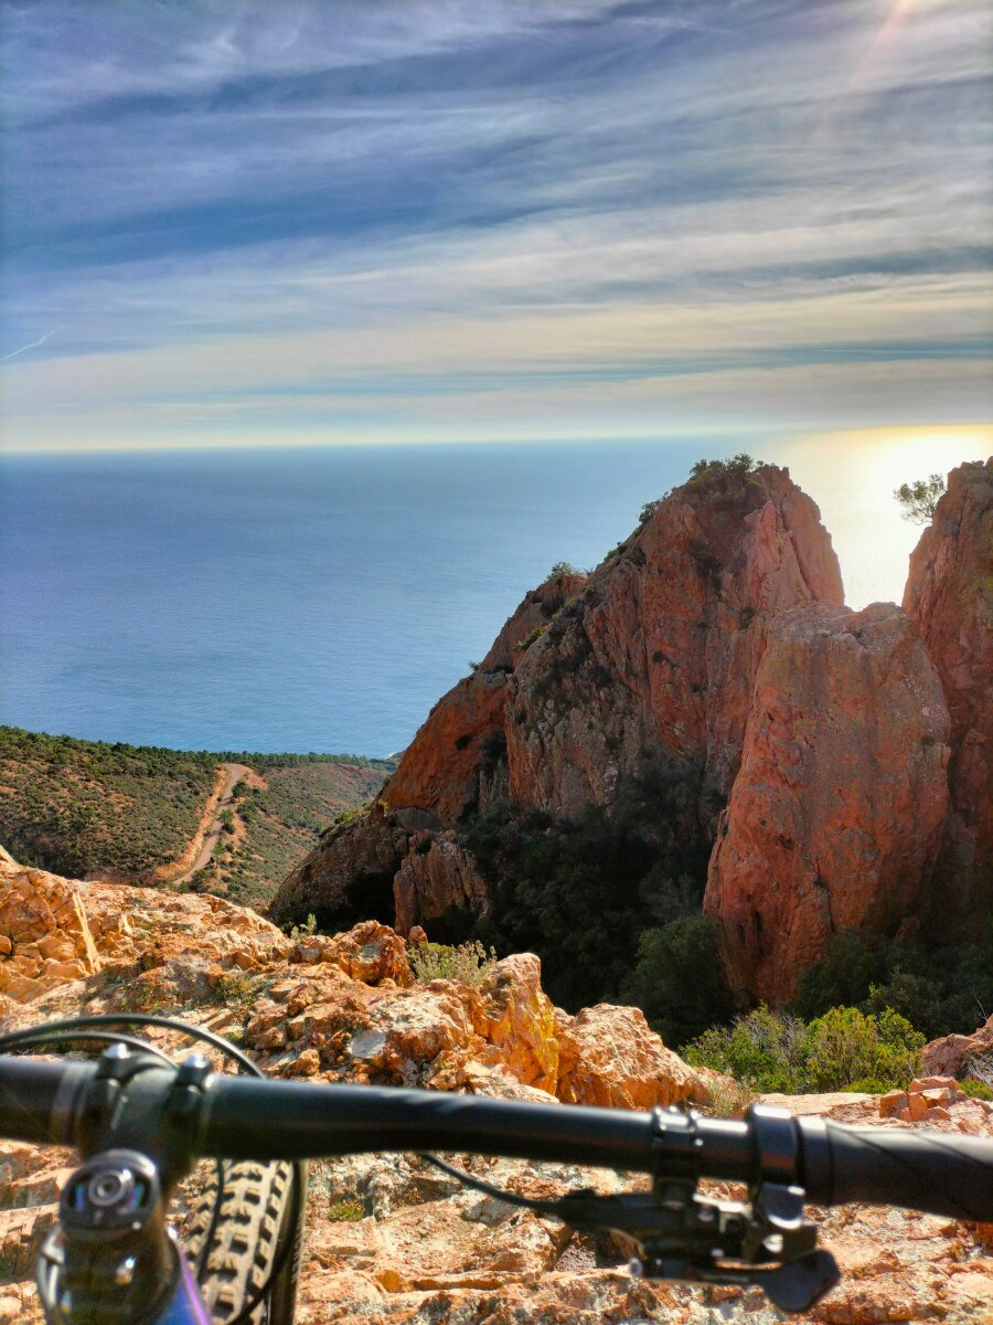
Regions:
[[[375,922],[290,939],[216,897],[73,884],[0,859],[3,1028],[77,1011],[181,1015],[230,1036],[275,1076],[426,1085],[620,1108],[727,1093],[687,1067],[632,1008],[571,1018],[552,1007],[534,957],[495,963],[478,984],[414,983],[404,941]],[[937,1041],[955,1072],[993,1044]],[[162,1043],[175,1048],[163,1032]],[[908,1084],[910,1085],[910,1084]],[[993,1136],[993,1109],[953,1081],[906,1098],[797,1097],[845,1122]],[[886,1117],[880,1117],[880,1110]],[[528,1195],[637,1185],[608,1171],[458,1157]],[[40,1321],[34,1251],[71,1166],[66,1153],[0,1147],[0,1321]],[[944,1321],[993,1325],[993,1227],[869,1206],[814,1211],[843,1281],[808,1316],[818,1325]],[[757,1291],[633,1280],[609,1239],[459,1187],[414,1157],[312,1167],[301,1292],[303,1325],[781,1320]]]

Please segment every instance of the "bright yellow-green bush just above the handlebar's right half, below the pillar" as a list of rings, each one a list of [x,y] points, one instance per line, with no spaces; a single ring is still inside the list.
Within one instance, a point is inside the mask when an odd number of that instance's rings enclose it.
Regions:
[[[726,1072],[753,1090],[801,1094],[904,1088],[922,1069],[924,1036],[884,1008],[834,1007],[810,1023],[759,1007],[683,1049],[687,1063]]]

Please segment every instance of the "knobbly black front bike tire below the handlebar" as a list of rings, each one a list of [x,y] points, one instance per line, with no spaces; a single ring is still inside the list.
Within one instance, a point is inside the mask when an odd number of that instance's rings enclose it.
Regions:
[[[294,1231],[293,1165],[241,1159],[221,1167],[220,1194],[214,1175],[193,1207],[185,1242],[211,1320],[233,1325],[271,1279],[265,1298],[244,1320],[290,1325],[303,1232],[299,1220],[295,1246],[286,1247]]]

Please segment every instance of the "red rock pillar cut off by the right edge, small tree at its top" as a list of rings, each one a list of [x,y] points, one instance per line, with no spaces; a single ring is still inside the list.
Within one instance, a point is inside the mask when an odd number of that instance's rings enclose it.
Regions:
[[[918,623],[952,718],[941,908],[976,928],[993,906],[993,460],[960,465],[910,563]]]

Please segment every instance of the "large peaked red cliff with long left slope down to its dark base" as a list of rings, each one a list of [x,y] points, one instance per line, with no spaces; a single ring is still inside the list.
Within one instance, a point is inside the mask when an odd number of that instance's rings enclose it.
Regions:
[[[830,538],[786,470],[704,466],[588,579],[527,595],[379,804],[326,835],[271,914],[336,925],[364,912],[401,929],[459,906],[483,916],[489,881],[459,828],[500,806],[609,814],[633,788],[649,837],[706,859],[771,623],[841,600]],[[653,806],[646,780],[671,794]]]

